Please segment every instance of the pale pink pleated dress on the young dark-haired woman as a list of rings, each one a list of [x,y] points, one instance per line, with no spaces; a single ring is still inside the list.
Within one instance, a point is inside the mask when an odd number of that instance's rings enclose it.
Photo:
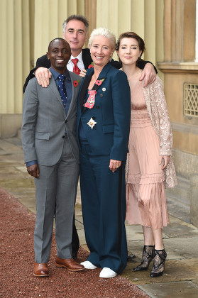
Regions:
[[[169,223],[158,136],[148,116],[142,82],[131,91],[126,219],[130,224],[163,228]]]

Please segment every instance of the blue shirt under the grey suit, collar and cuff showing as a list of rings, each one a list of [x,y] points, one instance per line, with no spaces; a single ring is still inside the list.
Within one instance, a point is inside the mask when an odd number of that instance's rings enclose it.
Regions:
[[[58,76],[59,75],[65,75],[65,89],[67,92],[67,101],[66,101],[66,106],[65,106],[65,114],[67,116],[67,113],[70,109],[70,104],[72,101],[72,81],[70,78],[70,73],[68,70],[65,70],[64,74],[60,74],[59,72],[57,72],[56,70],[54,70],[52,67],[50,67],[50,72],[53,75],[53,78],[55,79],[55,84],[57,86],[58,89]],[[37,160],[32,160],[29,162],[26,162],[26,167],[29,167],[30,165],[35,165],[38,164]]]

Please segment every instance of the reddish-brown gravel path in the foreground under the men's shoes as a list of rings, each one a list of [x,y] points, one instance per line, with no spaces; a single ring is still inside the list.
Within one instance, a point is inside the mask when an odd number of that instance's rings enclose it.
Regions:
[[[50,277],[33,277],[35,215],[0,188],[0,297],[35,298],[133,298],[147,297],[125,278],[99,278],[101,269],[69,272],[55,267],[55,238],[51,250]],[[79,261],[87,259],[79,250]]]

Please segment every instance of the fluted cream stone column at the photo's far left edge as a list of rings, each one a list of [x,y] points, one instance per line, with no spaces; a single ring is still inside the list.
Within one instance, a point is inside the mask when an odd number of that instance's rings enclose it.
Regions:
[[[0,1],[0,137],[14,136],[21,126],[22,88],[31,60],[29,4],[29,0]]]

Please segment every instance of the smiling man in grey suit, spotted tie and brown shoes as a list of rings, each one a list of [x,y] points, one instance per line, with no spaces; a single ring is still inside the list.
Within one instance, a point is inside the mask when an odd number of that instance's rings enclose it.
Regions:
[[[48,88],[31,79],[23,100],[22,144],[24,161],[35,177],[36,220],[34,275],[48,276],[53,235],[57,267],[84,270],[72,258],[72,230],[79,175],[76,138],[77,96],[82,79],[67,70],[70,45],[55,38],[48,48],[52,77]]]

